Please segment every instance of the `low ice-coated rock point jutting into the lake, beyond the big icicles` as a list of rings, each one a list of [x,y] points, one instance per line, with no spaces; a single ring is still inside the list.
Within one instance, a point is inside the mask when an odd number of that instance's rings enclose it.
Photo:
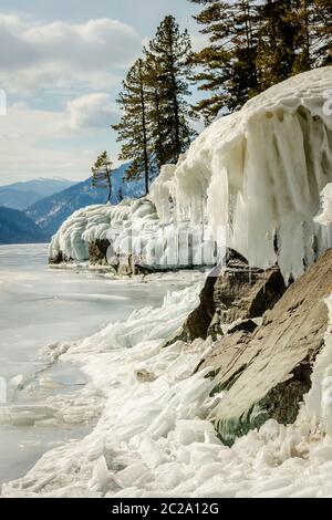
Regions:
[[[209,227],[188,221],[164,223],[148,198],[75,211],[53,237],[50,263],[87,261],[121,274],[214,266]]]

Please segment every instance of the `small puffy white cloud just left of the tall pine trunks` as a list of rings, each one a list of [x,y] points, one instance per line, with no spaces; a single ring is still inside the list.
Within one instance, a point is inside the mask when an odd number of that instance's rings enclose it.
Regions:
[[[117,119],[116,106],[112,97],[104,93],[87,94],[70,101],[68,112],[64,128],[75,132],[108,128]]]

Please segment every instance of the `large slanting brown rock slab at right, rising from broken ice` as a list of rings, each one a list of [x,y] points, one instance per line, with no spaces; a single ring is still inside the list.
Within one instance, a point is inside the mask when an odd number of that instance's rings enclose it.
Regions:
[[[216,375],[216,392],[226,391],[212,414],[224,443],[232,444],[269,418],[283,424],[295,420],[310,388],[312,363],[324,344],[328,310],[323,299],[331,289],[330,249],[266,311],[253,332],[234,330],[215,343],[203,367]],[[241,312],[237,303],[242,299],[232,301],[224,316]]]

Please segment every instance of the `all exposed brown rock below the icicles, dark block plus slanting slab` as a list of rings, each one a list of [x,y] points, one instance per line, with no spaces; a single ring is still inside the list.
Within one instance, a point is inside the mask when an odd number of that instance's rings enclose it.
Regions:
[[[225,324],[236,320],[224,334],[220,329],[222,335],[201,365],[215,376],[214,392],[225,392],[212,418],[228,445],[269,418],[295,420],[324,344],[323,299],[332,288],[331,249],[286,292],[277,268],[246,271],[242,260],[236,262],[235,271],[228,268],[208,279],[200,305],[185,325],[190,337],[206,336],[212,333],[215,314]]]

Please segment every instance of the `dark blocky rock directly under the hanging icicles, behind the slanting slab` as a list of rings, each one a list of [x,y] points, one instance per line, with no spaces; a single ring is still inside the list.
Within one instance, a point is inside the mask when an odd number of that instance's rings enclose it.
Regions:
[[[249,268],[247,260],[230,249],[226,268],[222,271],[220,267],[215,268],[207,278],[200,304],[188,316],[181,339],[216,337],[221,333],[221,324],[261,316],[284,291],[278,267],[267,271]]]

